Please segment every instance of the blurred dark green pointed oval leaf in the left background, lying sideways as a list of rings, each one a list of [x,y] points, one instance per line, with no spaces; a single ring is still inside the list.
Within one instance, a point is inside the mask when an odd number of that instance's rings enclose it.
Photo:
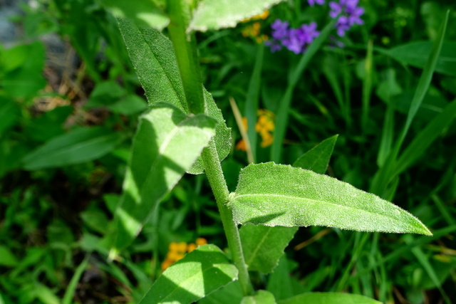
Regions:
[[[83,127],[46,142],[24,157],[24,169],[62,167],[98,159],[123,139],[104,127]]]

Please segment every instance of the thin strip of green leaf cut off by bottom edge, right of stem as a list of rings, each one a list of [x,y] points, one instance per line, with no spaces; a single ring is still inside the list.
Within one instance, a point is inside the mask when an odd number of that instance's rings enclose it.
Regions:
[[[350,293],[302,293],[293,298],[279,300],[279,304],[381,304],[377,300],[367,298],[364,295],[352,295]]]

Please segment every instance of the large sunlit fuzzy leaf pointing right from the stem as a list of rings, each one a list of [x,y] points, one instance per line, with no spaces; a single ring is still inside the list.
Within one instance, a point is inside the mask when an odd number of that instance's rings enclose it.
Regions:
[[[239,174],[229,206],[239,224],[329,226],[431,235],[415,216],[338,179],[273,162]]]

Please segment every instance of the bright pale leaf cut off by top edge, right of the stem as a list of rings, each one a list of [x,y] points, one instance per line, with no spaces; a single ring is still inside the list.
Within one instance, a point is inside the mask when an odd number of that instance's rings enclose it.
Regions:
[[[203,0],[199,1],[193,13],[190,29],[207,31],[234,27],[239,21],[261,14],[264,10],[281,0],[249,0],[237,1],[233,5],[230,0]]]

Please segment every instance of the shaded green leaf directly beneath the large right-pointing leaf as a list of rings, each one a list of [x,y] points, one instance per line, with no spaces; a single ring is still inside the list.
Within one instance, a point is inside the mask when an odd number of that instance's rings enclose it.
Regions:
[[[273,271],[297,230],[298,227],[242,226],[239,235],[249,271]]]

